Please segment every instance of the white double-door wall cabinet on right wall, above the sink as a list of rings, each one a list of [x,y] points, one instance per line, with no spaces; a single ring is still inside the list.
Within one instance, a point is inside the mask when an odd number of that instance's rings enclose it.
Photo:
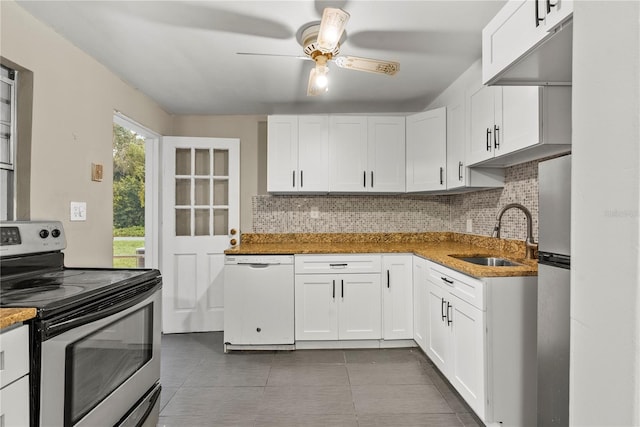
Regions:
[[[483,86],[470,95],[470,166],[508,167],[571,151],[571,87]]]

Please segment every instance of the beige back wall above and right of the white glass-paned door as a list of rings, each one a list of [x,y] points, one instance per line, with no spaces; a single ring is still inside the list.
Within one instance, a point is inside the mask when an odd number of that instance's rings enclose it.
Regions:
[[[176,136],[240,139],[240,231],[253,230],[251,197],[266,192],[266,116],[175,116]]]

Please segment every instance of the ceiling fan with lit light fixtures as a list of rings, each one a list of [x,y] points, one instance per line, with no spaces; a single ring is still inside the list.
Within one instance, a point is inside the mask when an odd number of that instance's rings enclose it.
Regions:
[[[357,56],[339,56],[340,45],[346,39],[345,27],[350,15],[342,9],[328,7],[322,13],[320,22],[307,24],[298,31],[298,41],[302,45],[305,56],[296,58],[312,60],[316,66],[311,69],[307,95],[321,95],[328,91],[329,80],[327,74],[329,62],[340,68],[356,71],[366,71],[393,76],[400,69],[400,64],[394,61],[361,58]],[[290,56],[270,55],[261,53],[238,52],[239,55]]]

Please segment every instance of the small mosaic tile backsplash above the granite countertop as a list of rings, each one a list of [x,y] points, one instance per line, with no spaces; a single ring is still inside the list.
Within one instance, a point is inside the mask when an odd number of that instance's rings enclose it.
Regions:
[[[489,236],[499,209],[521,203],[533,217],[538,238],[538,163],[505,169],[504,188],[441,196],[254,196],[254,233],[467,232]],[[313,214],[312,210],[317,214]],[[317,218],[316,218],[317,217]],[[248,231],[248,230],[247,230]],[[524,240],[524,214],[502,219],[501,237]]]

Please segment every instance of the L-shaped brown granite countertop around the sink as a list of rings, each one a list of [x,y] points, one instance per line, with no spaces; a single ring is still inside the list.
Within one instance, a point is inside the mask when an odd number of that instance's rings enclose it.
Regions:
[[[538,263],[525,259],[519,240],[452,232],[427,233],[290,233],[243,234],[241,244],[228,255],[413,253],[474,277],[537,276]],[[522,265],[488,267],[452,257],[497,256]]]

